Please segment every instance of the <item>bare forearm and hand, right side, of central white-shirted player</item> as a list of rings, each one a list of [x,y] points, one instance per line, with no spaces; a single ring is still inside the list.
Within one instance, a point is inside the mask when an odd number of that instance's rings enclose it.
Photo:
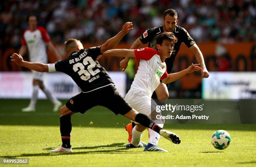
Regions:
[[[177,73],[169,73],[168,77],[164,78],[163,82],[165,84],[171,83],[171,82],[177,81],[179,78],[182,78],[183,76],[185,76],[188,73],[202,70],[202,68],[199,66],[200,66],[200,64],[191,64],[191,66],[189,66],[187,69],[185,69],[183,71],[179,71]]]

